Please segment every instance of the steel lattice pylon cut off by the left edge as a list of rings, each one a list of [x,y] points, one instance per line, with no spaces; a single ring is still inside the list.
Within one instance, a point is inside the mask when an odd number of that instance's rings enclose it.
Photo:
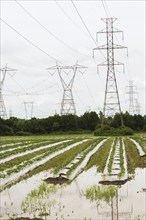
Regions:
[[[0,68],[0,118],[6,119],[7,118],[7,112],[6,107],[3,99],[2,89],[4,85],[4,81],[6,78],[7,72],[10,71],[16,71],[16,69],[12,69],[7,67],[7,65],[3,68]]]

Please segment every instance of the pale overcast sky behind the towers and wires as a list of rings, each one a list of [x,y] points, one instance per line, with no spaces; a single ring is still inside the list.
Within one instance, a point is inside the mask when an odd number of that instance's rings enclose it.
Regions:
[[[25,118],[24,102],[33,102],[34,117],[60,113],[62,84],[57,72],[51,75],[46,70],[55,66],[56,61],[69,66],[78,61],[88,67],[84,74],[76,73],[73,84],[77,114],[102,111],[107,71],[100,67],[97,73],[97,65],[105,61],[106,52],[96,51],[94,58],[92,55],[93,48],[106,43],[104,34],[99,35],[97,46],[95,41],[96,32],[105,28],[101,18],[107,16],[118,18],[114,26],[124,31],[124,41],[119,33],[114,36],[115,44],[128,47],[128,57],[125,49],[115,52],[115,59],[125,64],[125,73],[122,67],[115,68],[121,109],[124,112],[129,109],[125,92],[128,81],[132,80],[138,92],[134,99],[138,99],[140,113],[144,115],[145,1],[76,0],[73,3],[1,1],[1,68],[7,64],[17,69],[14,75],[7,73],[3,87],[8,116],[11,111],[13,116]],[[27,111],[29,117],[29,104]]]

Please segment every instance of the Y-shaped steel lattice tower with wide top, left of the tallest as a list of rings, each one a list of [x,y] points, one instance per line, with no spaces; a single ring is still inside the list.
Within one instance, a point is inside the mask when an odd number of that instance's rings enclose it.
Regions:
[[[61,102],[61,115],[76,114],[76,107],[72,93],[72,87],[77,71],[84,73],[86,67],[75,64],[73,66],[56,66],[49,67],[47,70],[53,75],[56,71],[60,77],[62,87],[63,87],[63,97]],[[54,72],[55,70],[55,72]],[[52,72],[53,71],[53,72]]]

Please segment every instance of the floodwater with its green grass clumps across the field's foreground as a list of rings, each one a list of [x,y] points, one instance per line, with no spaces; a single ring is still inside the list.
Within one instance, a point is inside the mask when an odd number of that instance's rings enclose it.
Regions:
[[[48,172],[41,172],[1,192],[0,218],[146,219],[146,168],[136,169],[131,180],[118,186],[99,184],[102,174],[97,173],[96,167],[63,185],[47,184],[43,181],[47,175]],[[106,194],[108,187],[113,194]]]

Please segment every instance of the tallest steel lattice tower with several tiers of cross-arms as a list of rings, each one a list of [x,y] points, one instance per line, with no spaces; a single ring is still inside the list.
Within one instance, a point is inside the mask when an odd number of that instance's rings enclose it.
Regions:
[[[115,60],[114,50],[123,49],[127,47],[114,44],[114,33],[122,32],[121,30],[115,29],[113,27],[113,23],[117,20],[117,18],[102,18],[101,20],[106,23],[106,28],[97,32],[97,34],[105,33],[107,43],[105,45],[94,48],[93,52],[94,50],[106,50],[107,51],[107,60],[98,65],[98,66],[107,66],[107,78],[106,78],[103,116],[113,117],[116,113],[120,113],[121,124],[123,124],[120,99],[119,99],[119,94],[118,94],[118,86],[117,86],[116,75],[115,75],[115,65],[124,66],[124,64]]]

